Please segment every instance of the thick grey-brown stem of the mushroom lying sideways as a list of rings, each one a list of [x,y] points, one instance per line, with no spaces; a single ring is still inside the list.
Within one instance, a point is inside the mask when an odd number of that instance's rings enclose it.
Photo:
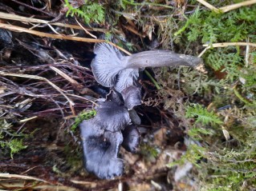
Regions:
[[[176,54],[169,50],[149,50],[128,56],[128,68],[161,66],[190,66],[201,63],[201,58],[185,54]]]

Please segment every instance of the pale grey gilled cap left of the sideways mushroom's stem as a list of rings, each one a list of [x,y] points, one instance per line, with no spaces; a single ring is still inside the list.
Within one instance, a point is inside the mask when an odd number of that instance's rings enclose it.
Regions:
[[[108,43],[98,43],[94,49],[95,58],[91,62],[91,70],[95,80],[102,86],[116,85],[116,75],[125,68],[123,54]]]

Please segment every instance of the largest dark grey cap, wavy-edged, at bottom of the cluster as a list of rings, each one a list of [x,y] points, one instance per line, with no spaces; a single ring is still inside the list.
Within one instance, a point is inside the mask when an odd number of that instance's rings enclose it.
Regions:
[[[84,165],[89,173],[110,179],[124,173],[124,162],[117,158],[123,136],[100,129],[90,120],[80,124]]]

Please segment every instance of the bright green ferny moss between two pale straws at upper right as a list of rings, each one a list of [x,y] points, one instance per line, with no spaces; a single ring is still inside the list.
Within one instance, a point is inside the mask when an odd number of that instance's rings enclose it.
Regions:
[[[184,34],[189,42],[239,42],[245,41],[250,34],[254,40],[256,6],[242,7],[225,14],[217,14],[210,10],[195,10],[187,18],[183,27],[174,35]]]

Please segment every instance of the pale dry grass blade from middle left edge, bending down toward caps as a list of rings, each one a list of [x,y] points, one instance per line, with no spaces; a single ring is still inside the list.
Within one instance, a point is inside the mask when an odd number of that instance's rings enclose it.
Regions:
[[[71,108],[72,108],[72,105],[75,105],[75,103],[74,103],[73,101],[71,101],[71,100],[63,93],[63,90],[61,90],[58,86],[56,86],[54,83],[52,83],[51,81],[49,81],[47,78],[43,78],[43,77],[39,77],[39,76],[35,76],[35,75],[28,75],[28,74],[6,73],[6,72],[2,72],[2,71],[0,71],[0,75],[3,75],[3,76],[13,76],[13,77],[19,77],[19,78],[30,78],[30,79],[43,80],[43,81],[47,82],[48,84],[50,84],[53,88],[55,88],[55,90],[57,90],[60,94],[62,94],[63,97],[65,97],[65,98],[67,99],[67,101],[70,103]]]

